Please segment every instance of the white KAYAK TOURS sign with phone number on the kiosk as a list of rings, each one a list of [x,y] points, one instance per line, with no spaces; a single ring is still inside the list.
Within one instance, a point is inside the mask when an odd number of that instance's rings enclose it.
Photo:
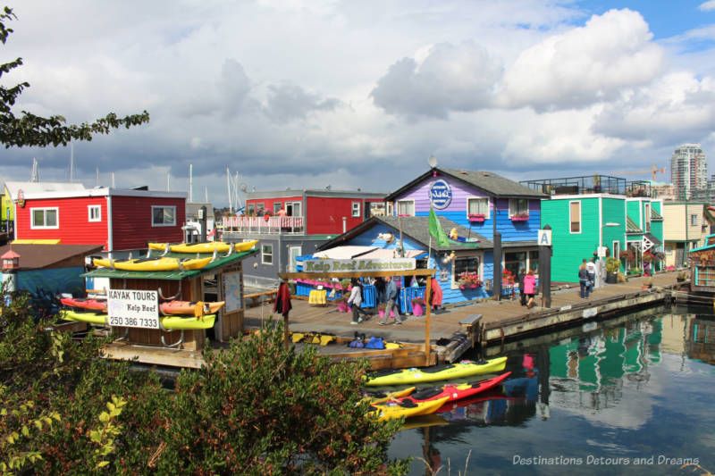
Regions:
[[[106,309],[110,326],[160,329],[156,291],[109,289]]]

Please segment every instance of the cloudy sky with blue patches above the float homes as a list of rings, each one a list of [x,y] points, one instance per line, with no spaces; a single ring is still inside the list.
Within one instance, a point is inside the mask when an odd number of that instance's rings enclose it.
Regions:
[[[511,180],[669,181],[715,157],[715,0],[22,0],[0,63],[13,111],[151,121],[0,149],[0,182],[391,192],[440,166]],[[710,168],[715,172],[715,167]],[[242,198],[242,196],[241,196]]]

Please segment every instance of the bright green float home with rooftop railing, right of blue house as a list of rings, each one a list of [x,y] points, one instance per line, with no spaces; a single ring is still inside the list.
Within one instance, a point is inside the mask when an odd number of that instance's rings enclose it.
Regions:
[[[551,195],[541,226],[551,226],[552,281],[577,282],[579,266],[594,256],[617,257],[625,272],[660,271],[662,200],[603,175],[522,183]]]

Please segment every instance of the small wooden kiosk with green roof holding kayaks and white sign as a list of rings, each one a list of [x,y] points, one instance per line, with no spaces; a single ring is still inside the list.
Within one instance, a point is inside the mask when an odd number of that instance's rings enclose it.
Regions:
[[[105,347],[105,356],[136,359],[139,363],[200,367],[201,350],[207,335],[227,342],[243,332],[243,266],[242,261],[255,255],[257,249],[227,255],[215,255],[214,261],[194,271],[122,271],[98,268],[85,276],[109,278],[112,290],[156,291],[159,301],[225,301],[216,315],[214,327],[204,330],[160,330],[114,327],[118,338]],[[169,253],[167,256],[187,257]],[[191,257],[196,255],[190,255]],[[202,254],[208,257],[210,254]],[[215,283],[215,284],[214,284]]]

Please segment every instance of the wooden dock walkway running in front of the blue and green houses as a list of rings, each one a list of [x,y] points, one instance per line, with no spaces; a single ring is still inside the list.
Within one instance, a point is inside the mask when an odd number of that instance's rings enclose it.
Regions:
[[[558,329],[580,322],[588,322],[610,314],[623,313],[649,304],[661,303],[670,295],[670,289],[676,285],[677,272],[665,272],[652,277],[652,288],[643,290],[644,278],[632,278],[628,282],[605,284],[596,289],[588,298],[580,297],[580,290],[575,288],[551,292],[551,308],[536,306],[532,309],[519,304],[516,300],[485,300],[472,305],[461,305],[449,310],[432,313],[429,330],[431,348],[438,354],[438,361],[453,361],[468,347],[462,346],[461,352],[455,353],[452,347],[436,346],[439,339],[451,339],[458,333],[467,334],[465,326],[459,322],[473,314],[482,314],[481,323],[475,326],[478,335],[472,336],[475,343],[483,345],[504,342],[508,339],[522,338],[539,331]],[[537,298],[540,296],[537,296]],[[395,325],[392,320],[387,326],[378,325],[379,316],[375,315],[358,325],[352,325],[352,313],[339,313],[335,305],[309,305],[307,300],[293,298],[290,311],[289,328],[295,332],[319,332],[334,334],[351,339],[355,332],[364,333],[366,338],[380,336],[387,341],[406,342],[425,345],[425,316],[407,316],[407,321]],[[272,313],[272,305],[260,305],[246,310],[245,325],[248,329],[260,328]],[[368,309],[368,312],[374,311]],[[404,317],[404,316],[403,316]],[[331,347],[331,346],[328,346]],[[341,347],[345,347],[344,345]],[[335,351],[326,351],[335,352]]]

